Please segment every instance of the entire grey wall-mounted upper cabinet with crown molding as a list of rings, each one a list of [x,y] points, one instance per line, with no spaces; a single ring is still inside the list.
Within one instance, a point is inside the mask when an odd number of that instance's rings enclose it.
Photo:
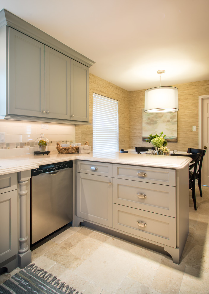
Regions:
[[[94,61],[5,9],[0,50],[0,119],[89,124]]]

